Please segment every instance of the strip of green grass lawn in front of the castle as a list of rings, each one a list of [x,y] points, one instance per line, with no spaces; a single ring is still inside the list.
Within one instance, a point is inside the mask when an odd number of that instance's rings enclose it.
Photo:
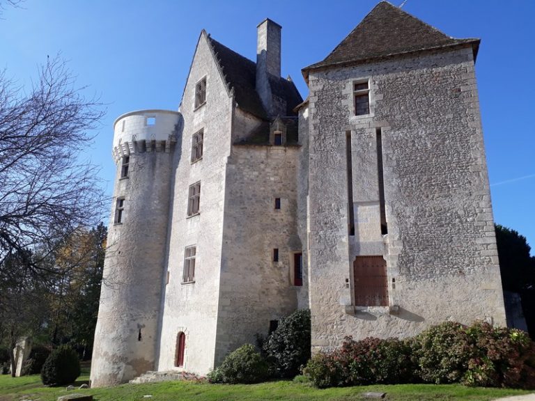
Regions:
[[[76,386],[87,382],[88,371],[82,369]],[[400,384],[396,386],[362,386],[327,388],[318,390],[306,383],[288,381],[251,385],[208,384],[204,382],[164,382],[153,384],[124,384],[109,388],[87,388],[67,391],[65,387],[48,388],[41,384],[38,375],[15,377],[0,375],[0,401],[56,401],[60,395],[70,393],[91,394],[97,401],[257,401],[257,400],[360,400],[366,391],[387,393],[385,400],[445,401],[445,400],[494,400],[508,395],[529,393],[500,388],[470,388],[456,384],[435,386],[432,384]],[[152,395],[144,398],[144,395]]]

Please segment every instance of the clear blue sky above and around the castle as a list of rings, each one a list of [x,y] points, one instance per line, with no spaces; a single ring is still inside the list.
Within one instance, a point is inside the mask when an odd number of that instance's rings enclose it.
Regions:
[[[77,84],[107,104],[86,157],[102,167],[111,196],[115,118],[178,108],[201,29],[254,60],[256,25],[265,17],[278,22],[282,74],[290,74],[306,97],[301,68],[325,58],[376,3],[26,0],[22,8],[3,11],[0,68],[27,85],[47,55],[61,52]],[[535,248],[535,1],[408,0],[403,10],[449,36],[481,38],[476,76],[495,221]]]

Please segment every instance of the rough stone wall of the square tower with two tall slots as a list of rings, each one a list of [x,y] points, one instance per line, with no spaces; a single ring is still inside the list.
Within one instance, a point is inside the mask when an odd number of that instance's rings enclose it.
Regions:
[[[352,84],[361,79],[370,82],[368,116],[353,111]],[[412,336],[444,320],[504,325],[472,49],[312,71],[309,86],[313,348],[336,347],[350,334]],[[348,235],[348,205],[355,214],[355,235]],[[389,306],[355,308],[352,262],[357,255],[385,256]]]

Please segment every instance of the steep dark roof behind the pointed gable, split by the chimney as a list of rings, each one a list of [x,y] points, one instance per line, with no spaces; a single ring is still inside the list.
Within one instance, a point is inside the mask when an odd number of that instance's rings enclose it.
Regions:
[[[267,118],[262,101],[256,92],[256,63],[234,52],[228,47],[208,36],[210,45],[215,52],[219,68],[225,75],[229,90],[234,90],[235,101],[240,109],[257,116]],[[286,99],[286,115],[295,116],[293,109],[302,102],[293,81],[277,77],[270,77],[273,95]]]

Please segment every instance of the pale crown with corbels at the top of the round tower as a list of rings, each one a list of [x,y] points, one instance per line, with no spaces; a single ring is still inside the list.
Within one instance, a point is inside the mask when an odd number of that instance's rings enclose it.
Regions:
[[[121,157],[136,152],[169,152],[176,143],[181,115],[170,110],[130,111],[114,123],[113,157],[116,164]]]

